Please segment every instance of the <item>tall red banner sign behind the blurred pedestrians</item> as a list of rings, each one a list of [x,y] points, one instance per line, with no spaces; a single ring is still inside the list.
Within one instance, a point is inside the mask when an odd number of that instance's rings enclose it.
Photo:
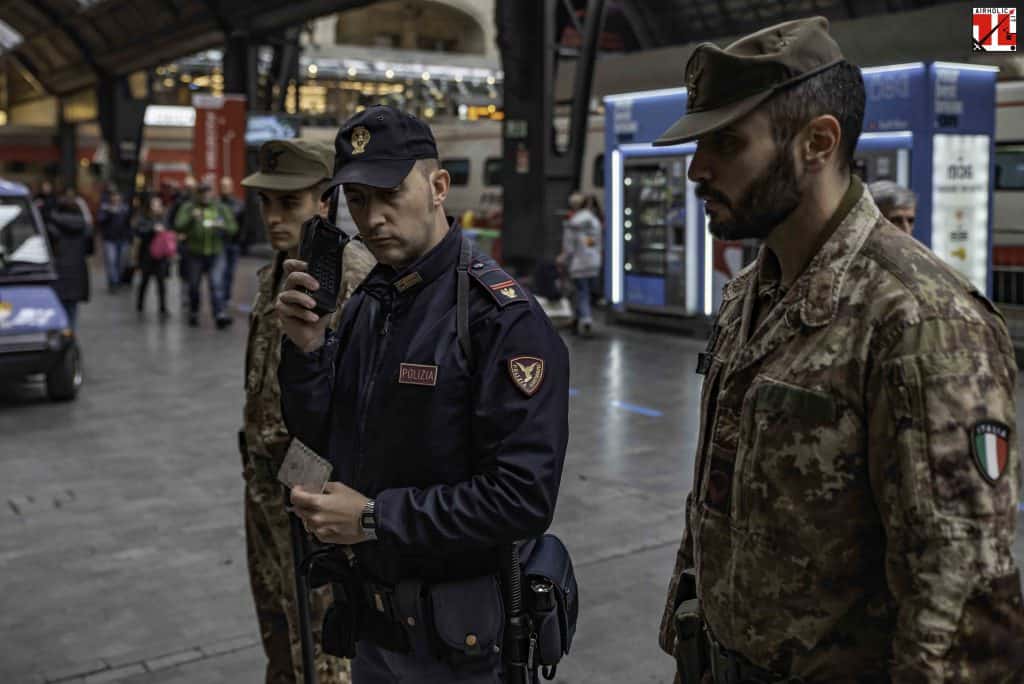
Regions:
[[[246,174],[246,98],[243,95],[194,95],[196,127],[193,171],[197,180],[219,191],[224,176],[234,183],[234,195]]]

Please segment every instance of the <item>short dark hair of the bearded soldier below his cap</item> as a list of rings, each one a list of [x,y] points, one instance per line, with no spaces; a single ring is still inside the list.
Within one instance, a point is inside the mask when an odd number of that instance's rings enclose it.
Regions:
[[[849,170],[864,125],[864,80],[860,69],[841,61],[772,95],[765,103],[772,137],[788,145],[815,117],[830,114],[840,125],[840,168]]]

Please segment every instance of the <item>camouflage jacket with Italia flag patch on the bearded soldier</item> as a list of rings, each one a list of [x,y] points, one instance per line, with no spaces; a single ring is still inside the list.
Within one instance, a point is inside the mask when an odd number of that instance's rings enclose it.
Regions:
[[[725,288],[662,647],[695,567],[715,638],[780,675],[1022,681],[1006,326],[859,181],[833,220],[757,330],[774,255]]]

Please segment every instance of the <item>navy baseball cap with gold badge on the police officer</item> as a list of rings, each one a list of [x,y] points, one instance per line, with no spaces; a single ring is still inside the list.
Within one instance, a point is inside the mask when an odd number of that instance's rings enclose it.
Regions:
[[[331,186],[362,183],[397,187],[418,159],[437,159],[430,127],[386,104],[368,106],[349,119],[334,140]]]

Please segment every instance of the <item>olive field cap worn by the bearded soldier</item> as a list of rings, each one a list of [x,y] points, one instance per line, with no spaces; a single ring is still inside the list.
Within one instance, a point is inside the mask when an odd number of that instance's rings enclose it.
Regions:
[[[823,16],[777,24],[724,49],[701,43],[686,62],[686,114],[653,144],[687,142],[723,128],[842,61]]]

